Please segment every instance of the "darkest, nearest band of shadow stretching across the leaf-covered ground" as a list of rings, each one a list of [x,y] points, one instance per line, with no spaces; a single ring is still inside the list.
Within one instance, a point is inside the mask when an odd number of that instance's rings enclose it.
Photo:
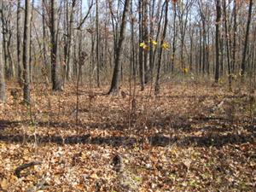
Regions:
[[[148,142],[152,146],[166,147],[168,145],[176,144],[177,146],[187,147],[223,147],[227,144],[241,144],[241,143],[254,143],[256,133],[248,135],[228,134],[228,135],[212,135],[212,136],[191,136],[191,137],[166,137],[160,134],[148,137]],[[7,143],[34,143],[35,138],[37,143],[48,144],[96,144],[96,145],[108,145],[112,147],[131,147],[136,143],[142,143],[142,139],[136,137],[91,137],[90,134],[80,136],[28,136],[28,135],[2,135],[0,134],[0,140]]]

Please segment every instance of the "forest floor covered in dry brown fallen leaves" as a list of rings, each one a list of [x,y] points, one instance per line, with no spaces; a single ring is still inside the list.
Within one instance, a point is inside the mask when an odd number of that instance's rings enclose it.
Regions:
[[[60,93],[38,85],[30,108],[12,87],[0,104],[0,191],[256,189],[246,90],[166,83],[154,96],[137,87],[131,109],[129,86],[107,96],[108,86],[81,85],[77,111],[74,84]]]

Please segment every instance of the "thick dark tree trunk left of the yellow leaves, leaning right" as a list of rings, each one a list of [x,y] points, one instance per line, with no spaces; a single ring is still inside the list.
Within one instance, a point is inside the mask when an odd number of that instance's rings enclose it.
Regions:
[[[119,78],[120,78],[120,68],[121,68],[120,53],[121,53],[122,44],[125,38],[126,15],[129,12],[129,6],[130,6],[130,0],[125,0],[122,22],[121,22],[121,27],[119,32],[119,43],[115,50],[116,57],[114,61],[113,78],[112,78],[110,90],[108,91],[109,95],[119,94]]]

